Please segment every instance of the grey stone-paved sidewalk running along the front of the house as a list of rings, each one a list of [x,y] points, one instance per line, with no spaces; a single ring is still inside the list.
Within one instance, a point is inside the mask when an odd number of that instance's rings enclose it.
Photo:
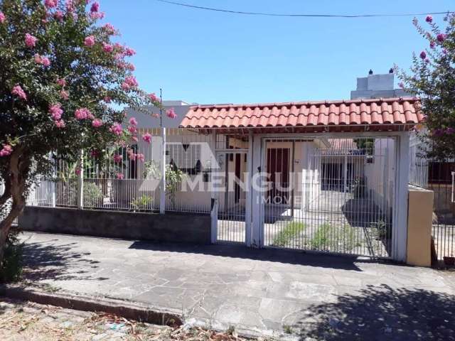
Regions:
[[[455,276],[296,251],[24,233],[33,283],[305,340],[455,340]],[[361,336],[360,336],[361,335]]]

